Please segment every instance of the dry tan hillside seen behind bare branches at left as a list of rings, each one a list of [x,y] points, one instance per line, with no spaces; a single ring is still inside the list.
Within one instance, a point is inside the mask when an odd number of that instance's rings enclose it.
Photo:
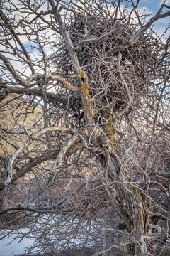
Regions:
[[[10,94],[2,100],[0,102],[1,158],[8,160],[18,146],[23,144],[26,137],[42,129],[41,124],[41,107],[16,94]]]

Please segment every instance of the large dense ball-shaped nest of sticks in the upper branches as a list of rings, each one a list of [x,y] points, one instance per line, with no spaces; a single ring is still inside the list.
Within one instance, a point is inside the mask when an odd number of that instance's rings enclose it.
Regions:
[[[74,48],[77,50],[79,64],[89,78],[89,93],[93,99],[96,116],[103,106],[109,106],[116,114],[128,102],[127,92],[118,77],[118,50],[115,48],[128,43],[139,29],[140,25],[127,23],[126,20],[114,24],[109,19],[98,19],[93,16],[85,21],[81,15],[67,26]],[[106,33],[108,36],[104,36]],[[92,40],[79,43],[89,38]],[[142,95],[145,95],[149,86],[153,85],[157,55],[159,55],[157,39],[152,33],[145,33],[136,43],[123,50],[120,69],[128,85],[132,105],[139,104]],[[75,75],[64,41],[60,43],[60,50],[55,60],[59,73],[62,70],[62,74],[68,77]],[[79,86],[76,79],[70,79],[72,85]]]

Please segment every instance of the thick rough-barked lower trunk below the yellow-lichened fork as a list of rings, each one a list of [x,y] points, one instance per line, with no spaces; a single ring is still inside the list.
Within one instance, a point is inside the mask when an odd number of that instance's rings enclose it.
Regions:
[[[147,233],[147,211],[145,196],[141,196],[139,190],[132,186],[123,166],[115,153],[104,153],[101,156],[101,164],[108,173],[107,183],[103,181],[104,190],[111,198],[113,207],[128,227],[132,240],[127,247],[129,255],[140,255],[142,235]]]

